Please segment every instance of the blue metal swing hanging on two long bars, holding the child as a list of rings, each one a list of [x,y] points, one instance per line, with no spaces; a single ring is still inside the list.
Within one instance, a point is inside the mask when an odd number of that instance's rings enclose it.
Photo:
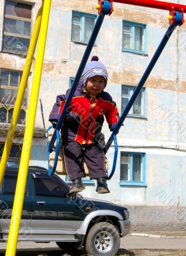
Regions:
[[[143,1],[145,1],[145,3],[147,2],[147,0],[143,0]],[[116,2],[118,2],[118,3],[125,3],[125,2],[128,3],[129,1],[124,0],[124,1],[116,1]],[[135,2],[136,5],[138,5],[138,4],[140,5],[140,3],[141,3],[140,0],[137,0],[137,1],[134,1],[134,2]],[[171,3],[153,1],[153,4],[155,4],[154,2],[156,2],[156,4],[159,4],[159,5],[156,6],[157,8],[160,8],[161,4],[163,3],[163,4],[165,4],[164,9],[170,11],[170,15],[168,17],[170,25],[169,25],[169,28],[166,31],[164,37],[162,38],[162,41],[159,44],[159,47],[155,51],[155,54],[152,57],[152,60],[148,64],[148,67],[145,70],[145,73],[141,77],[141,80],[138,83],[138,86],[134,90],[134,93],[132,94],[131,99],[129,100],[127,106],[125,107],[124,112],[120,116],[120,119],[118,120],[118,123],[117,123],[115,129],[111,133],[111,136],[110,136],[108,142],[106,143],[106,145],[104,147],[104,154],[106,154],[106,152],[108,151],[108,149],[111,146],[111,143],[114,141],[115,153],[114,153],[114,157],[113,157],[113,166],[111,168],[110,174],[108,175],[108,180],[110,180],[111,177],[113,176],[113,174],[115,172],[115,166],[116,166],[116,163],[117,163],[117,154],[118,154],[117,133],[118,133],[120,127],[122,126],[127,114],[129,113],[130,109],[132,108],[132,105],[134,104],[134,101],[138,97],[138,94],[140,93],[141,89],[143,88],[143,85],[147,81],[147,78],[150,75],[150,72],[152,71],[152,69],[154,68],[155,63],[159,59],[159,56],[161,56],[161,53],[162,53],[164,47],[166,46],[170,36],[172,35],[176,26],[181,26],[183,24],[183,21],[184,21],[184,19],[183,19],[183,9],[181,9],[181,12],[175,12],[176,8],[171,7],[171,5],[170,5]],[[68,98],[66,99],[66,103],[64,104],[64,109],[62,110],[61,116],[60,116],[60,118],[57,122],[57,125],[55,127],[54,132],[53,132],[53,135],[51,136],[51,133],[49,135],[49,131],[50,131],[50,129],[52,129],[52,127],[49,127],[48,130],[47,130],[48,175],[53,175],[55,171],[57,173],[61,173],[61,174],[66,175],[59,131],[61,129],[61,124],[64,121],[64,118],[66,116],[66,109],[68,108],[68,106],[71,102],[73,94],[75,93],[78,81],[80,80],[80,77],[82,76],[83,69],[84,69],[84,67],[87,63],[87,60],[89,58],[89,55],[90,55],[90,52],[91,52],[92,47],[94,45],[94,42],[96,41],[96,36],[99,33],[99,29],[101,28],[101,24],[103,23],[104,15],[107,15],[107,14],[110,15],[111,12],[113,11],[112,3],[113,3],[113,1],[101,1],[101,0],[99,1],[99,4],[97,5],[97,9],[99,10],[99,12],[98,12],[99,16],[97,18],[96,24],[95,24],[94,29],[92,31],[92,35],[90,36],[90,40],[89,40],[89,43],[87,45],[87,49],[85,50],[85,53],[83,54],[83,58],[82,58],[82,61],[80,63],[80,67],[78,68],[78,71],[76,73],[75,80],[74,80],[73,85],[71,87],[71,90],[69,92]],[[149,6],[151,7],[151,5],[149,5]],[[161,8],[162,8],[162,6],[161,6]],[[55,141],[56,141],[56,143],[55,143]],[[86,175],[89,175],[86,166],[85,166],[85,173],[86,173]]]

